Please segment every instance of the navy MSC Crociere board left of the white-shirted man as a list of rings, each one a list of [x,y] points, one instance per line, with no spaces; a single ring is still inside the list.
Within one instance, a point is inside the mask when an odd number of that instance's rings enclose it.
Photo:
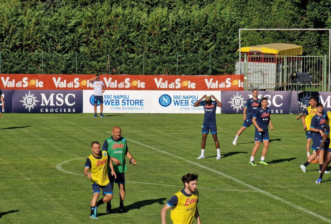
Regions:
[[[13,90],[13,113],[82,113],[81,90]]]

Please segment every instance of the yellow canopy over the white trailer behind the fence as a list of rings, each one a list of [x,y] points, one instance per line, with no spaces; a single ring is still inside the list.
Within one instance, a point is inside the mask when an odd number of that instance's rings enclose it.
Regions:
[[[241,52],[294,56],[302,54],[302,46],[290,43],[268,43],[251,47],[242,47]]]

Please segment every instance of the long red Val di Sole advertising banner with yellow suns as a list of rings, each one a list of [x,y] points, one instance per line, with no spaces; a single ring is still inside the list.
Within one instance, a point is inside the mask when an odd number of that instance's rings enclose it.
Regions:
[[[0,74],[1,89],[93,89],[95,75]],[[244,90],[243,75],[100,75],[109,90]]]

